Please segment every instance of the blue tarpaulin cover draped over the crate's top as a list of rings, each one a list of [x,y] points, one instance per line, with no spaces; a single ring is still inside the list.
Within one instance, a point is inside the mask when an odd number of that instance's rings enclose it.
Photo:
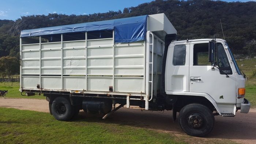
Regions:
[[[115,42],[135,42],[145,39],[147,31],[147,15],[131,18],[104,20],[69,24],[64,26],[45,27],[40,29],[23,30],[20,37],[32,37],[49,34],[63,34],[86,31],[114,30]]]

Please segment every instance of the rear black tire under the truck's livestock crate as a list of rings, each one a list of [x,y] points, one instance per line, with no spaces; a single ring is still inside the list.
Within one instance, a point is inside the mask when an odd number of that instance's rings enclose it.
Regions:
[[[72,118],[74,110],[67,98],[59,96],[53,100],[52,115],[59,121],[68,121]]]

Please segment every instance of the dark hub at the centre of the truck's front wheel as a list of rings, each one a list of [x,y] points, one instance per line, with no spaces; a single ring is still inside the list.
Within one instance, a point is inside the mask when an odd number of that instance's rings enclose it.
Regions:
[[[191,114],[188,117],[188,124],[192,128],[201,128],[203,125],[203,118],[200,114]]]

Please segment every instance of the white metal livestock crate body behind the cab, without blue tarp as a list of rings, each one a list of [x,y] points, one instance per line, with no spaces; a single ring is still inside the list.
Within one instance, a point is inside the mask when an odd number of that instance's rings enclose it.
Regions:
[[[79,40],[75,32],[21,37],[20,91],[122,95],[127,107],[140,99],[148,109],[160,89],[165,34],[177,31],[164,14],[145,17],[144,39],[138,41],[117,41],[116,29],[79,31]]]

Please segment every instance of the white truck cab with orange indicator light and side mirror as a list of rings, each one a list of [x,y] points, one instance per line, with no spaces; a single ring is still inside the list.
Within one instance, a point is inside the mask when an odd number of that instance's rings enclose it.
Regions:
[[[176,107],[180,114],[186,107],[184,105],[191,107],[191,103],[200,103],[211,112],[216,111],[214,115],[233,117],[239,109],[241,113],[248,113],[251,105],[244,98],[245,75],[240,72],[227,42],[223,39],[171,42],[166,58],[165,92],[177,98],[174,104],[182,107]],[[193,115],[204,117],[202,111],[199,111],[191,111],[193,114],[188,114],[187,118],[197,121]],[[189,122],[191,121],[184,122],[184,127]],[[193,130],[201,128],[198,123],[192,123],[190,126]],[[182,122],[180,124],[182,127]],[[191,130],[187,133],[193,135]]]

